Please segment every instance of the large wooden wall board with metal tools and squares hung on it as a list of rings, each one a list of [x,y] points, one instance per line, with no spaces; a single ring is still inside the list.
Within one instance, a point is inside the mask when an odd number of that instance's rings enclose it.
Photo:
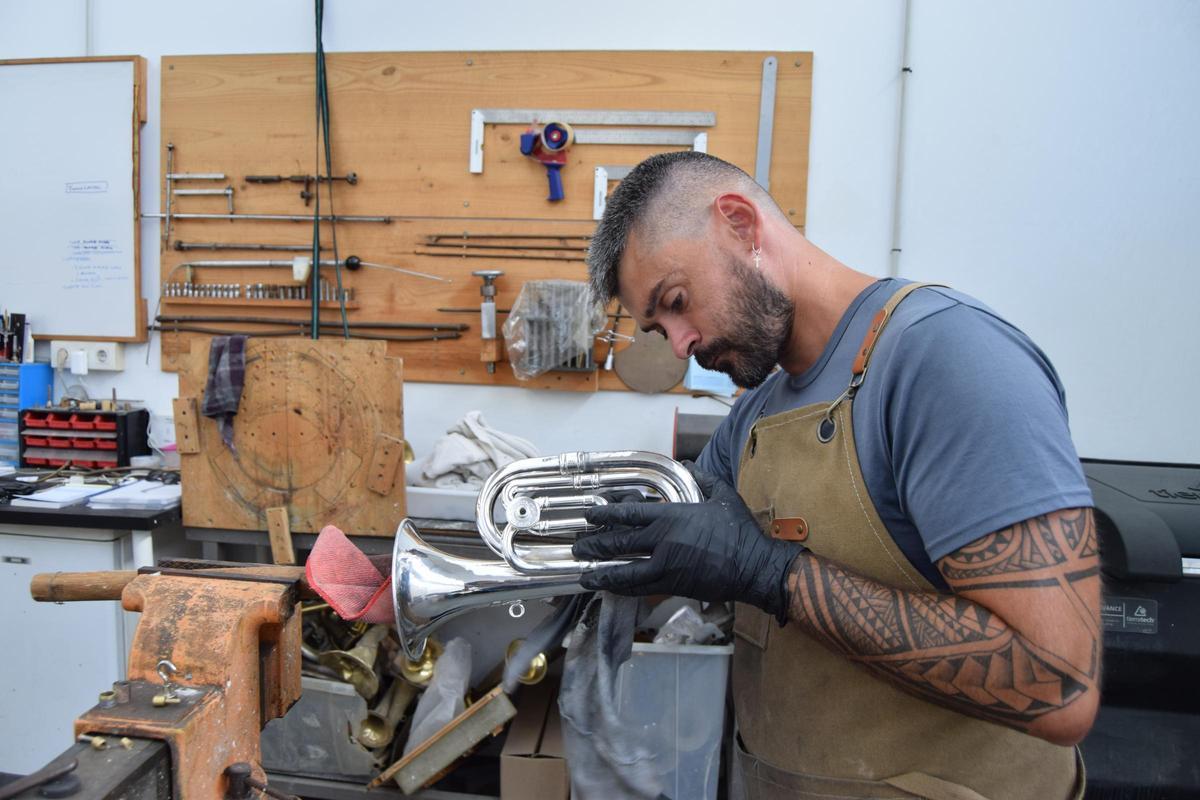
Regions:
[[[546,200],[544,168],[520,154],[524,126],[485,128],[485,167],[468,172],[469,121],[474,108],[583,108],[714,112],[708,151],[754,170],[763,59],[778,58],[770,186],[803,228],[808,184],[812,56],[809,53],[341,53],[328,56],[334,174],[354,172],[355,186],[335,185],[340,215],[388,215],[391,224],[340,223],[340,254],[395,264],[451,278],[434,283],[377,270],[344,275],[353,288],[355,321],[464,323],[462,338],[388,343],[402,355],[408,380],[524,385],[577,391],[623,389],[612,373],[556,372],[517,381],[506,365],[488,374],[479,359],[478,313],[446,314],[442,307],[479,305],[473,270],[502,269],[497,305],[509,307],[524,281],[584,279],[578,260],[454,259],[414,255],[431,234],[588,234],[593,174],[599,164],[634,164],[671,146],[577,145],[563,170],[566,197]],[[162,60],[162,162],[175,145],[175,172],[229,176],[235,210],[311,213],[299,186],[256,185],[251,174],[314,172],[313,61],[310,54],[166,56]],[[164,201],[163,201],[164,203]],[[224,198],[184,198],[176,211],[221,212]],[[311,223],[178,221],[172,241],[311,242]],[[330,241],[325,225],[322,240]],[[574,242],[577,245],[578,242]],[[557,254],[577,258],[578,253]],[[164,281],[180,279],[178,265],[196,258],[283,258],[250,252],[162,254]],[[272,282],[282,272],[221,270],[202,282]],[[294,307],[164,302],[175,314],[238,314],[264,319],[306,318]],[[323,319],[336,321],[337,312]],[[503,318],[502,318],[503,321]],[[628,329],[626,329],[628,330]],[[164,333],[164,369],[178,369],[194,333]],[[325,336],[330,336],[326,333]],[[607,345],[596,349],[602,360]]]

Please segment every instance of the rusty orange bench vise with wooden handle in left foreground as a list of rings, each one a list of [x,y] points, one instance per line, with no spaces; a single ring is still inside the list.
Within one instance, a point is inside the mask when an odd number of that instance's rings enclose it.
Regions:
[[[35,600],[120,599],[126,610],[142,613],[127,680],[101,692],[76,720],[84,744],[50,768],[61,771],[74,758],[86,780],[85,744],[121,742],[130,751],[164,745],[169,787],[161,786],[158,796],[238,800],[250,788],[266,788],[259,733],[300,698],[302,567],[143,572],[46,573],[31,583]],[[97,794],[92,787],[77,796]]]

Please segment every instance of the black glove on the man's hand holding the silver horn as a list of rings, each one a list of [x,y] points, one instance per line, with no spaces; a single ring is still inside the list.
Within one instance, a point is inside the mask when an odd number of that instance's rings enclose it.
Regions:
[[[594,570],[581,583],[622,595],[736,600],[782,622],[785,577],[804,547],[764,535],[733,487],[695,464],[685,465],[707,501],[619,503],[583,512],[589,523],[610,529],[576,541],[575,558],[650,558]]]

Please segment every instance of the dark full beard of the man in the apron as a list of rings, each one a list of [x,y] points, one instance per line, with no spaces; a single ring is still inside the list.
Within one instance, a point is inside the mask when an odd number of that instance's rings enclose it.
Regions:
[[[757,270],[731,263],[733,289],[728,333],[694,354],[706,369],[724,372],[743,389],[767,379],[792,335],[796,303]]]

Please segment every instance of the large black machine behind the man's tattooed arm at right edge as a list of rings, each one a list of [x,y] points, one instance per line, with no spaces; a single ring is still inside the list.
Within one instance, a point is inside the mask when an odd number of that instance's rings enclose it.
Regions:
[[[1104,570],[1088,800],[1200,798],[1200,464],[1084,459]]]

